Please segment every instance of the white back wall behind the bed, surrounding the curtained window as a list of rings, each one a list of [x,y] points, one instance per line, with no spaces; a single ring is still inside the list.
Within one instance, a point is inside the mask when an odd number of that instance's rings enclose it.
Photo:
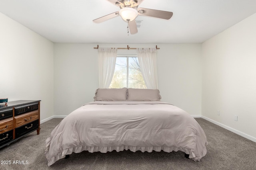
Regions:
[[[160,47],[158,81],[162,101],[201,115],[201,44],[129,44],[130,47]],[[99,44],[127,47],[127,44]],[[54,44],[54,115],[68,115],[92,102],[98,88],[97,44]],[[136,50],[118,50],[136,54]]]

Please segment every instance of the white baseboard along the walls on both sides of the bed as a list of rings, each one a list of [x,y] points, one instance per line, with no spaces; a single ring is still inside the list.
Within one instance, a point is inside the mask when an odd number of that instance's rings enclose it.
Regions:
[[[253,142],[256,142],[256,138],[255,138],[255,137],[252,137],[252,136],[247,135],[246,133],[243,133],[243,132],[241,132],[241,131],[238,131],[238,130],[232,128],[232,127],[229,127],[229,126],[227,126],[227,125],[224,125],[224,124],[222,124],[222,123],[219,123],[219,122],[217,122],[217,121],[214,121],[214,120],[212,120],[212,119],[210,119],[210,118],[208,118],[208,117],[205,117],[205,116],[202,116],[202,115],[191,115],[191,116],[194,117],[194,118],[203,118],[203,119],[206,119],[207,121],[210,121],[210,122],[214,123],[215,125],[218,125],[218,126],[220,126],[220,127],[223,127],[224,129],[227,129],[227,130],[229,130],[229,131],[232,131],[232,132],[234,132],[234,133],[236,133],[236,134],[238,134],[238,135],[240,135],[240,136],[242,136],[242,137],[245,137],[246,139],[249,139],[249,140],[251,140],[251,141],[253,141]],[[66,116],[64,116],[64,115],[60,115],[60,116],[55,115],[55,116],[48,117],[48,118],[46,118],[46,119],[44,119],[44,120],[41,120],[40,123],[44,123],[44,122],[46,122],[46,121],[48,121],[48,120],[50,120],[50,119],[53,119],[53,118],[65,118],[65,117],[66,117]]]

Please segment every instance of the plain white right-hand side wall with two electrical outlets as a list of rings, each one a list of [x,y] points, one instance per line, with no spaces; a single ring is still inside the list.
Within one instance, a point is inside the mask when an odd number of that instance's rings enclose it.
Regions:
[[[255,139],[256,14],[204,42],[202,58],[202,115]]]

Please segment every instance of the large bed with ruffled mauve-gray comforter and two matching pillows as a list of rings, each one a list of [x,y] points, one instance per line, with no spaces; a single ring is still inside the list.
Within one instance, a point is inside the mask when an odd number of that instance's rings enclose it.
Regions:
[[[160,99],[155,89],[97,89],[94,102],[66,116],[46,139],[48,166],[84,150],[180,150],[199,161],[206,154],[203,129],[186,111]]]

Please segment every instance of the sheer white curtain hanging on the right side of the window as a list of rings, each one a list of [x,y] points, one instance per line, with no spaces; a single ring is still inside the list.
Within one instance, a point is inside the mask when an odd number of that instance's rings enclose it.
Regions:
[[[149,89],[158,89],[156,48],[137,48],[140,71]]]

